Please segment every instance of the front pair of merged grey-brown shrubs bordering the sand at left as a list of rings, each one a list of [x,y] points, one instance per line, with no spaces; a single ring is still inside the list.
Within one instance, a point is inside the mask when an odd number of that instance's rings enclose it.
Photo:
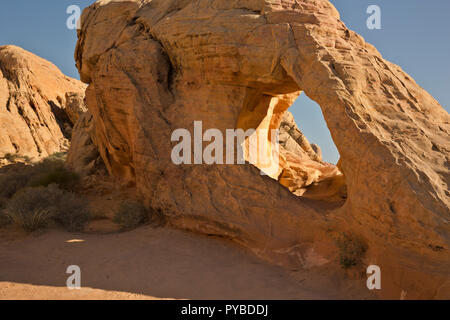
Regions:
[[[54,184],[20,190],[7,202],[5,213],[27,232],[46,228],[52,222],[68,231],[81,231],[90,219],[84,201]]]

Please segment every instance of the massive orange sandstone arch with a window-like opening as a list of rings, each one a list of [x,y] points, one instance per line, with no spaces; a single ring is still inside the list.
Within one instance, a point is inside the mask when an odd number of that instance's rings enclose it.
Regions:
[[[329,1],[98,1],[75,57],[109,172],[173,225],[298,268],[339,268],[345,231],[367,244],[360,271],[381,266],[380,296],[450,296],[450,117]],[[309,148],[280,161],[304,197],[250,164],[172,162],[174,130],[278,128],[301,91],[341,155],[339,169]]]

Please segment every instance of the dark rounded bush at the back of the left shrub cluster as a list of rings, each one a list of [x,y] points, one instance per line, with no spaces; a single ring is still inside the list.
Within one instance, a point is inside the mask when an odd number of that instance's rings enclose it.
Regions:
[[[47,187],[57,184],[63,189],[70,189],[78,182],[78,175],[64,166],[64,161],[58,158],[46,158],[33,167],[28,182],[31,187]]]

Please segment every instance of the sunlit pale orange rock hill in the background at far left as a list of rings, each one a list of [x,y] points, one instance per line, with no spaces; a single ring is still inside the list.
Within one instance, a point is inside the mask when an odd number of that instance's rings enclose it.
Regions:
[[[0,158],[40,159],[67,151],[73,125],[66,94],[86,86],[16,46],[0,47]]]

